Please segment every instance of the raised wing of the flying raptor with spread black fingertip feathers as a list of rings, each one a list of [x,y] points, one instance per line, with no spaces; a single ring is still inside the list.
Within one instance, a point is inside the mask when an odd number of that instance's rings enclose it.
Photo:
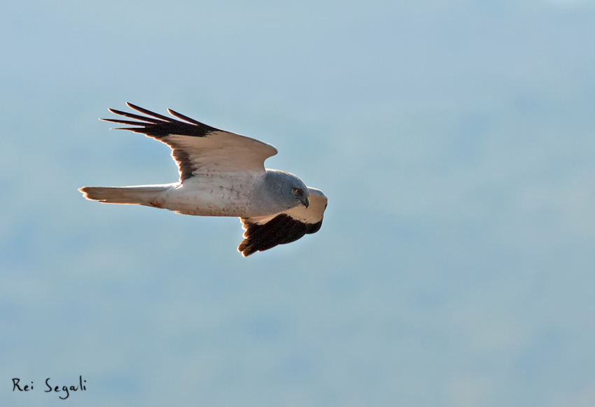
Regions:
[[[213,173],[265,173],[265,159],[277,153],[276,148],[255,138],[240,136],[197,122],[190,117],[167,109],[170,115],[151,112],[132,103],[127,106],[143,115],[109,109],[116,115],[134,120],[101,119],[106,122],[128,124],[120,127],[155,138],[172,148],[178,164],[180,181]],[[183,121],[181,121],[183,120]]]

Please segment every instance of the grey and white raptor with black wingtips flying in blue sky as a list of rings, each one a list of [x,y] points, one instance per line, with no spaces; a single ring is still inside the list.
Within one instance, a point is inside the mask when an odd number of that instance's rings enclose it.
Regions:
[[[126,105],[140,114],[109,108],[132,120],[100,120],[125,124],[129,127],[116,129],[167,144],[178,166],[179,181],[81,187],[86,199],[164,208],[183,215],[239,217],[244,240],[237,250],[244,257],[321,229],[327,197],[292,173],[265,169],[265,160],[278,152],[272,145],[216,129],[172,109],[167,109],[172,115],[168,117],[129,102]]]

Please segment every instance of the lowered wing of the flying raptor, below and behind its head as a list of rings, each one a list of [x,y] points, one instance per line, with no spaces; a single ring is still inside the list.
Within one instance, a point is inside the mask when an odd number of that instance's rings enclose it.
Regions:
[[[244,257],[262,252],[276,245],[297,241],[305,234],[316,233],[322,226],[327,199],[314,188],[308,188],[309,206],[297,206],[269,216],[241,217],[244,241],[237,250]]]

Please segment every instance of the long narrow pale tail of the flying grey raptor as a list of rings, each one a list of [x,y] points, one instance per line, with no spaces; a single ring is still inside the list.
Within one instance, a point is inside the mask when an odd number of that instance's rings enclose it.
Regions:
[[[80,192],[87,199],[104,203],[130,203],[160,206],[158,198],[172,185],[141,185],[137,187],[82,187]]]

